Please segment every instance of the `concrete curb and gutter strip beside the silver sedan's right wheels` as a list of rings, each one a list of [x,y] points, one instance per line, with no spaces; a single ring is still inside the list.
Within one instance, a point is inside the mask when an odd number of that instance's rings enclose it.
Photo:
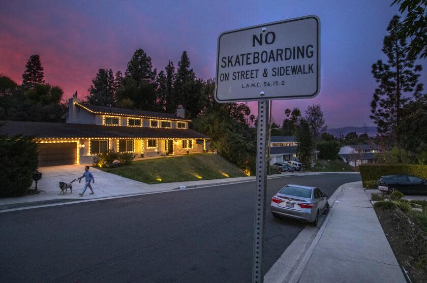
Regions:
[[[338,205],[338,203],[335,201],[341,198],[344,187],[347,184],[349,183],[340,185],[328,199],[330,210],[325,220],[323,221],[320,229],[309,226],[306,226],[304,229],[302,229],[298,236],[285,249],[281,257],[264,275],[264,282],[298,282],[299,277],[301,277],[302,272],[306,268],[314,252],[314,249],[316,248],[317,243],[319,242],[324,230],[326,229],[331,215],[333,214],[335,208]],[[312,243],[309,245],[304,245],[304,243],[306,243],[308,240],[312,240]],[[302,249],[302,253],[298,254],[295,251],[301,250],[301,245],[303,245],[304,247]],[[286,263],[290,264],[286,264],[284,259],[286,259]]]

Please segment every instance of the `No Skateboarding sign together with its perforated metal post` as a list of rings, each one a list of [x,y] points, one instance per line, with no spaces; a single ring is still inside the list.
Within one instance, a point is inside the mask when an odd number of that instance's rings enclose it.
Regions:
[[[317,16],[229,30],[218,37],[215,100],[218,103],[258,101],[253,282],[264,279],[268,102],[314,98],[319,91]]]

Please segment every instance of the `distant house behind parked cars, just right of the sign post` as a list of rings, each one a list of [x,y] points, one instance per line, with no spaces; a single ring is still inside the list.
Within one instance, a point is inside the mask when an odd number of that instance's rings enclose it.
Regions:
[[[297,145],[298,142],[294,136],[272,136],[270,138],[270,164],[298,160]],[[317,150],[313,152],[314,160],[317,159],[318,152]]]

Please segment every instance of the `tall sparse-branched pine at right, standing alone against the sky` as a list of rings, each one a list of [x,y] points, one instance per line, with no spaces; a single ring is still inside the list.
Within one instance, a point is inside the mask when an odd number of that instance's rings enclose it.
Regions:
[[[394,145],[399,143],[402,107],[422,91],[422,84],[418,84],[421,65],[414,66],[416,56],[410,52],[406,34],[401,30],[400,17],[395,15],[383,41],[382,51],[388,60],[378,60],[372,65],[372,74],[379,85],[371,102],[370,117],[377,124],[378,133],[391,136]]]

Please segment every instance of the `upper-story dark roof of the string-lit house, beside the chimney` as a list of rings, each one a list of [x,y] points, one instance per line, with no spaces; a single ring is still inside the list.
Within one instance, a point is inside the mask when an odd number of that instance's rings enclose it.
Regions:
[[[135,110],[135,109],[126,109],[126,108],[115,108],[108,106],[99,106],[99,105],[84,105],[81,103],[75,103],[77,106],[95,114],[103,115],[116,115],[116,116],[134,116],[141,118],[163,118],[170,120],[179,120],[179,121],[192,121],[189,119],[184,119],[176,116],[176,114],[169,113],[160,113],[154,111],[145,111],[145,110]]]

